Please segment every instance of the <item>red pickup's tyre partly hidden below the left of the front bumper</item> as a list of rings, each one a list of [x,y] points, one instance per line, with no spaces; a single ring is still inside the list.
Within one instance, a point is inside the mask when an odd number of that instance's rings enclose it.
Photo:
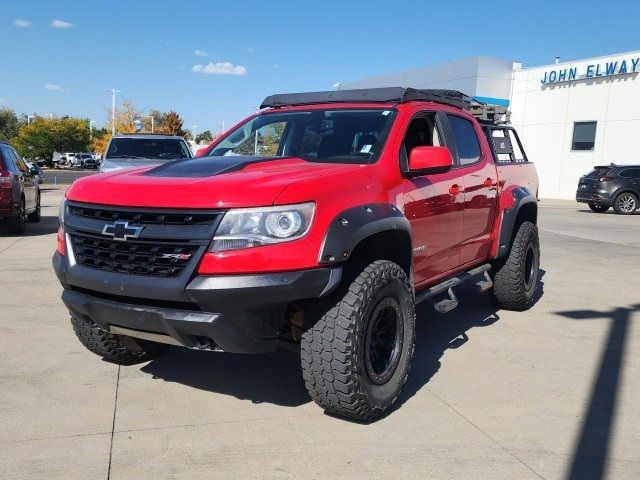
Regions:
[[[151,360],[167,349],[167,345],[163,343],[105,332],[94,323],[82,318],[72,316],[71,325],[80,342],[89,351],[109,362],[133,365]]]

